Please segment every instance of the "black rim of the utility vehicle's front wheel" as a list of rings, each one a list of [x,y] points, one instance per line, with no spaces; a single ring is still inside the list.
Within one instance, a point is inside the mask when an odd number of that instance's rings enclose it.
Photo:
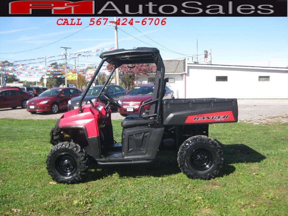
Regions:
[[[77,169],[74,156],[70,153],[61,153],[55,159],[55,168],[60,175],[72,176]]]

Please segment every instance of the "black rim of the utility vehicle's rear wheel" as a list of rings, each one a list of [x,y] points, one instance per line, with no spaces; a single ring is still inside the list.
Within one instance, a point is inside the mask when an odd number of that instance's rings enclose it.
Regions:
[[[207,170],[212,166],[212,163],[213,156],[208,149],[197,148],[190,154],[190,164],[196,170]]]

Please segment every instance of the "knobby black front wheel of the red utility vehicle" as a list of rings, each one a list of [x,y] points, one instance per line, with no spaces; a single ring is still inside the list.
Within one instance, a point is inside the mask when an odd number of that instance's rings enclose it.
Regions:
[[[88,158],[80,145],[60,142],[46,159],[48,174],[58,183],[78,183],[88,171]]]

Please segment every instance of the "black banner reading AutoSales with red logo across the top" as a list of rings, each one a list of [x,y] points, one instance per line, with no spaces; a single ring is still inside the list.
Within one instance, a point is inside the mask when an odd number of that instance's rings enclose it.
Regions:
[[[0,1],[0,16],[287,16],[287,0]],[[63,21],[63,20],[62,20]],[[66,21],[66,20],[64,20]],[[69,20],[70,21],[70,20]],[[67,22],[69,22],[67,20]],[[80,23],[75,20],[75,23]],[[128,21],[128,20],[127,20]],[[110,21],[108,21],[110,22]],[[111,21],[113,22],[113,21]],[[132,22],[141,22],[134,20]],[[74,23],[71,22],[71,23]]]

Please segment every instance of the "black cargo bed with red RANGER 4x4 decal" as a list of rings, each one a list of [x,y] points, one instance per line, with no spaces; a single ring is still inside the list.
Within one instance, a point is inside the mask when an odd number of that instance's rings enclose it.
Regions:
[[[237,122],[237,99],[195,98],[162,100],[163,125]]]

